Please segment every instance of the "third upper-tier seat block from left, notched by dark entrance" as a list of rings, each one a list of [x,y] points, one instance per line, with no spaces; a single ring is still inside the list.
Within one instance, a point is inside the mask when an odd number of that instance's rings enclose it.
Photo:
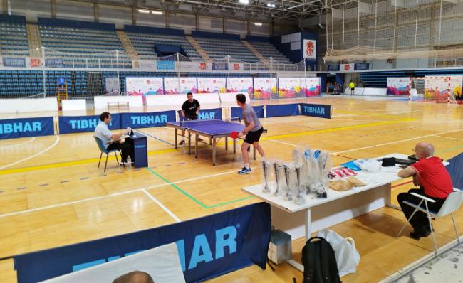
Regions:
[[[192,61],[200,61],[201,56],[196,52],[194,47],[187,41],[184,31],[173,30],[170,28],[149,28],[142,26],[125,26],[132,46],[137,51],[141,59],[150,60],[157,58],[155,53],[155,44],[166,44],[172,46],[181,46],[187,56]]]

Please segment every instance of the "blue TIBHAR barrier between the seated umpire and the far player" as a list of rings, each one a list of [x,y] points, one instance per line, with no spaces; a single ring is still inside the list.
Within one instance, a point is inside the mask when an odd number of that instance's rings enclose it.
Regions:
[[[166,122],[175,121],[175,110],[151,113],[123,113],[121,118],[122,128],[133,129],[162,127]]]

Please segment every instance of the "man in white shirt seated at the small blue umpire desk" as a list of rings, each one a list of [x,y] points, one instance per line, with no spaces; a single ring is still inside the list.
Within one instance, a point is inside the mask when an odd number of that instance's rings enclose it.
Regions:
[[[101,139],[103,145],[106,149],[120,149],[122,151],[121,154],[121,162],[120,165],[125,166],[127,165],[127,157],[130,156],[133,162],[133,155],[132,155],[132,146],[125,142],[125,139],[119,139],[124,134],[127,134],[127,130],[118,132],[117,134],[113,134],[110,132],[108,128],[108,124],[111,123],[111,114],[109,112],[103,112],[100,114],[100,123],[95,128],[94,136]]]

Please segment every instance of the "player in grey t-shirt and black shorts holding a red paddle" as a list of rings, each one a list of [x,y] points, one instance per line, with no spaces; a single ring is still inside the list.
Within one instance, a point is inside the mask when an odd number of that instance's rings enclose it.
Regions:
[[[259,139],[261,138],[262,132],[264,132],[264,128],[257,118],[257,114],[254,111],[254,108],[251,105],[246,104],[246,96],[239,93],[236,95],[236,103],[241,110],[243,110],[243,119],[244,128],[241,132],[239,132],[238,137],[244,136],[246,134],[246,138],[244,139],[243,144],[241,144],[241,154],[243,154],[243,168],[238,172],[239,174],[249,174],[251,173],[251,168],[249,167],[249,146],[251,144],[254,145],[254,148],[259,151],[262,157],[264,157],[264,149],[261,148],[259,145]]]

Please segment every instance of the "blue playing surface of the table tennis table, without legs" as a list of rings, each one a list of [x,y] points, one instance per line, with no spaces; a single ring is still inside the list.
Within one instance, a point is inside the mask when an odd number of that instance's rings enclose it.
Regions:
[[[167,124],[210,136],[229,135],[231,132],[241,132],[245,128],[243,124],[220,120],[167,122]]]

